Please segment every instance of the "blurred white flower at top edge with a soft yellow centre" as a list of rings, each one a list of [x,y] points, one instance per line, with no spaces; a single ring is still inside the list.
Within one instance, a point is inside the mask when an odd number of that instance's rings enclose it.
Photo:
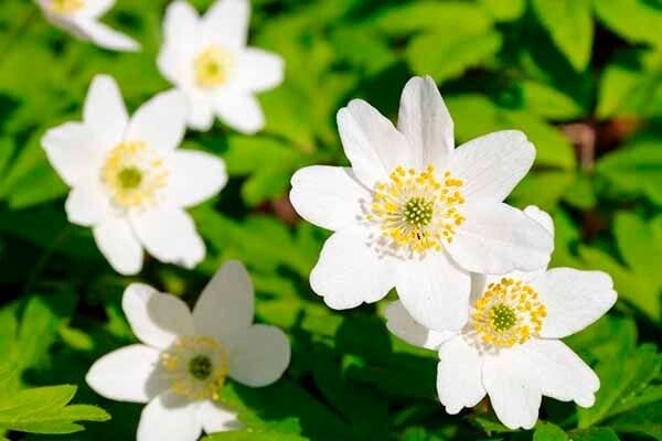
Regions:
[[[284,62],[246,47],[249,9],[248,0],[217,0],[200,18],[185,1],[168,7],[159,69],[189,97],[194,129],[209,130],[214,116],[245,133],[265,125],[254,94],[282,82]]]

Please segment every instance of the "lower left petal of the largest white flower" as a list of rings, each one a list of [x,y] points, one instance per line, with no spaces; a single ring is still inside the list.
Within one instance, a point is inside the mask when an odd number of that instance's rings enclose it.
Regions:
[[[361,227],[335,232],[322,247],[310,273],[312,290],[334,310],[381,300],[395,286],[397,260],[369,246],[374,239]]]

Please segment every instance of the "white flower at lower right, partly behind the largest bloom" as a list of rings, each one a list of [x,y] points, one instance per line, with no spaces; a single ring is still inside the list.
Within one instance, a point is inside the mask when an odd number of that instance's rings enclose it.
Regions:
[[[553,232],[546,213],[536,207],[525,213]],[[601,271],[554,268],[476,276],[473,282],[471,319],[459,332],[428,330],[401,302],[386,310],[391,332],[439,352],[437,391],[446,411],[473,407],[487,394],[506,427],[531,429],[543,395],[592,406],[600,381],[559,338],[613,305],[611,278]]]

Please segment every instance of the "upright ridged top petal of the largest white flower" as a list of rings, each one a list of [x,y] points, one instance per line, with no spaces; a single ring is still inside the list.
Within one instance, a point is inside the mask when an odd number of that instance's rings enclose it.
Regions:
[[[429,76],[407,82],[401,98],[397,128],[416,152],[419,169],[445,170],[455,148],[453,123],[446,104]]]

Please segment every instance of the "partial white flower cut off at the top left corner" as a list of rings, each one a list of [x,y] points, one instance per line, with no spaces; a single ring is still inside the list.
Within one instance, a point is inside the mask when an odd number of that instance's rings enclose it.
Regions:
[[[99,22],[115,0],[36,0],[55,26],[84,41],[113,51],[138,51],[140,44]]]

